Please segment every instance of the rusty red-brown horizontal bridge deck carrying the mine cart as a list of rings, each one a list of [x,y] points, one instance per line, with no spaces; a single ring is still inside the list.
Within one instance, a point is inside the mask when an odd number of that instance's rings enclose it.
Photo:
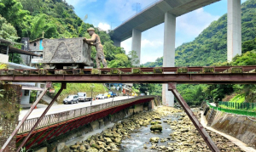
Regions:
[[[81,70],[0,70],[4,82],[129,82],[129,83],[255,83],[256,65],[218,67],[162,67],[121,68],[119,74],[110,74],[113,69],[100,69],[102,74],[93,74],[92,69]],[[160,72],[155,72],[155,70]],[[60,74],[61,73],[61,74]]]

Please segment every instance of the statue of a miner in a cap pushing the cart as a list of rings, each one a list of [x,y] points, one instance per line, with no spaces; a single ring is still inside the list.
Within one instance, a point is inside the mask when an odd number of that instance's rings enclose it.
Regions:
[[[103,46],[102,46],[102,42],[100,37],[95,33],[94,28],[90,27],[89,29],[87,29],[87,32],[90,35],[90,39],[86,39],[84,37],[84,41],[88,42],[90,45],[95,46],[96,48],[96,66],[97,68],[101,68],[101,62],[102,65],[104,66],[104,68],[107,68],[107,61],[105,59],[105,55],[103,52]]]

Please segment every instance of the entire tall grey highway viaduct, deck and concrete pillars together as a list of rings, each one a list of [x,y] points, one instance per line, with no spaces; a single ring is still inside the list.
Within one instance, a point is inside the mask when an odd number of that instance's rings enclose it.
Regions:
[[[113,30],[114,45],[120,47],[120,42],[132,37],[131,50],[137,52],[140,60],[142,32],[165,23],[163,67],[173,67],[176,18],[218,1],[220,0],[158,0]],[[231,61],[236,54],[241,54],[241,0],[228,0],[227,46],[228,61]],[[166,84],[163,84],[162,98],[163,103],[173,106],[174,97],[168,92]]]

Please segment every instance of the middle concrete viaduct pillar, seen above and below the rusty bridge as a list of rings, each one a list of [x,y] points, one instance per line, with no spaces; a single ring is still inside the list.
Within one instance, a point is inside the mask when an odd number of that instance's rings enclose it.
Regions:
[[[165,14],[163,67],[175,66],[175,33],[176,33],[176,16],[170,13],[166,13]],[[167,84],[163,84],[162,101],[164,105],[174,106],[174,96],[172,92],[168,91]]]

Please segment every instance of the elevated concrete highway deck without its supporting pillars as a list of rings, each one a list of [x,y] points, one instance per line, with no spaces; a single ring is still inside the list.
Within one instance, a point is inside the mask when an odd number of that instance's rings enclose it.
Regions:
[[[132,29],[147,31],[164,23],[166,13],[178,17],[218,1],[220,0],[160,0],[116,27],[112,38],[116,42],[125,41],[132,37]]]

